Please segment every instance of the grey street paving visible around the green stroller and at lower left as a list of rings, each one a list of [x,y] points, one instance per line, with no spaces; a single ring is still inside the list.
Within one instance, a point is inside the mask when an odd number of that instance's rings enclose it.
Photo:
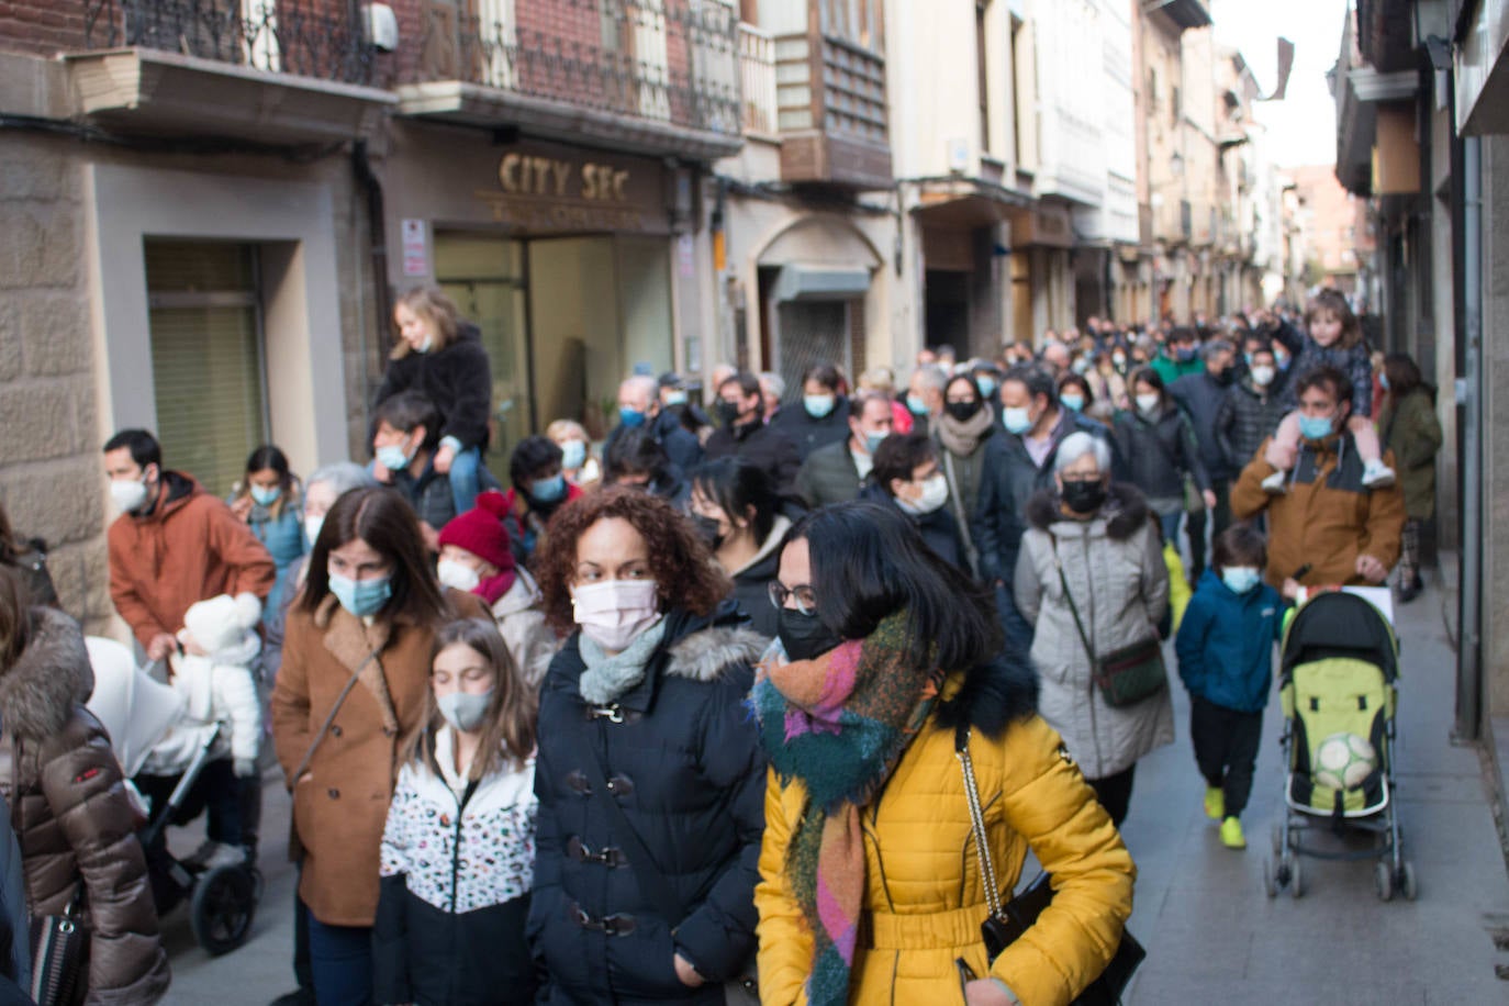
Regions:
[[[1509,931],[1509,876],[1471,748],[1453,747],[1452,652],[1441,594],[1397,609],[1405,639],[1399,709],[1399,801],[1405,854],[1420,897],[1382,903],[1372,861],[1304,860],[1305,893],[1263,894],[1262,866],[1278,820],[1278,698],[1265,718],[1245,852],[1221,846],[1201,811],[1201,781],[1189,748],[1183,689],[1176,689],[1179,739],[1138,766],[1124,834],[1141,870],[1132,931],[1148,959],[1129,1006],[1274,1001],[1500,1003],[1509,965],[1492,928]],[[1172,661],[1172,650],[1169,650]],[[1169,664],[1172,668],[1172,664]],[[293,988],[293,869],[284,857],[288,801],[269,777],[263,825],[267,893],[252,940],[211,959],[193,943],[187,916],[166,923],[174,964],[171,1003],[266,1006]],[[195,842],[177,836],[177,845]]]

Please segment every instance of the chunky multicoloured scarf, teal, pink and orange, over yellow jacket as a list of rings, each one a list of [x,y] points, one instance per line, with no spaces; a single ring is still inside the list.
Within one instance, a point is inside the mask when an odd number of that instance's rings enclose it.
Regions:
[[[868,638],[812,661],[770,656],[750,695],[777,775],[807,790],[786,878],[812,931],[812,1006],[848,1001],[865,899],[860,810],[884,789],[943,680],[937,668],[905,659],[905,612],[896,612]]]

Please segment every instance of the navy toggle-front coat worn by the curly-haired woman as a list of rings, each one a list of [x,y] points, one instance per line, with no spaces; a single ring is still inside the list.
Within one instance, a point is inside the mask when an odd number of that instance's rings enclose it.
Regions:
[[[607,707],[581,697],[579,633],[551,664],[540,695],[528,931],[560,1001],[721,1004],[720,982],[735,977],[754,950],[765,760],[744,697],[764,641],[741,624],[729,602],[711,618],[667,612],[644,680]],[[656,857],[685,919],[664,919],[626,863],[572,855],[625,849],[601,795],[592,793],[584,759],[599,760],[611,798]],[[578,912],[616,916],[632,931],[605,935],[585,928]],[[676,953],[708,985],[682,985]]]

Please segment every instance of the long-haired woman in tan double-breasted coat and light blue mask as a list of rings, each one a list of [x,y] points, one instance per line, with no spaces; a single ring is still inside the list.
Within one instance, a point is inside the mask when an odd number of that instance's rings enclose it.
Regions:
[[[371,1001],[379,846],[401,753],[424,725],[435,632],[486,614],[442,591],[395,492],[356,489],[326,514],[272,700],[321,1006]]]

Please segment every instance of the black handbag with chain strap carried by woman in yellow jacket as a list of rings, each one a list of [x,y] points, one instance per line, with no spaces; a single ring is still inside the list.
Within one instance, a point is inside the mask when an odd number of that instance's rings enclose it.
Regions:
[[[975,781],[975,762],[969,757],[967,730],[961,733],[954,753],[964,772],[969,825],[975,836],[975,851],[979,855],[979,881],[985,888],[985,905],[990,908],[985,922],[979,923],[979,935],[985,943],[985,959],[994,962],[1000,952],[1016,943],[1038,920],[1043,909],[1053,903],[1053,882],[1047,873],[1040,873],[1020,894],[1002,902],[996,866],[990,857],[990,842],[985,837],[985,811],[979,802],[979,784]],[[1117,944],[1117,952],[1106,964],[1106,970],[1074,997],[1073,1006],[1115,1006],[1120,1003],[1121,992],[1126,991],[1127,982],[1132,980],[1133,971],[1145,956],[1147,950],[1136,941],[1136,937],[1123,929],[1121,943]],[[963,958],[957,964],[961,982],[976,977]]]

